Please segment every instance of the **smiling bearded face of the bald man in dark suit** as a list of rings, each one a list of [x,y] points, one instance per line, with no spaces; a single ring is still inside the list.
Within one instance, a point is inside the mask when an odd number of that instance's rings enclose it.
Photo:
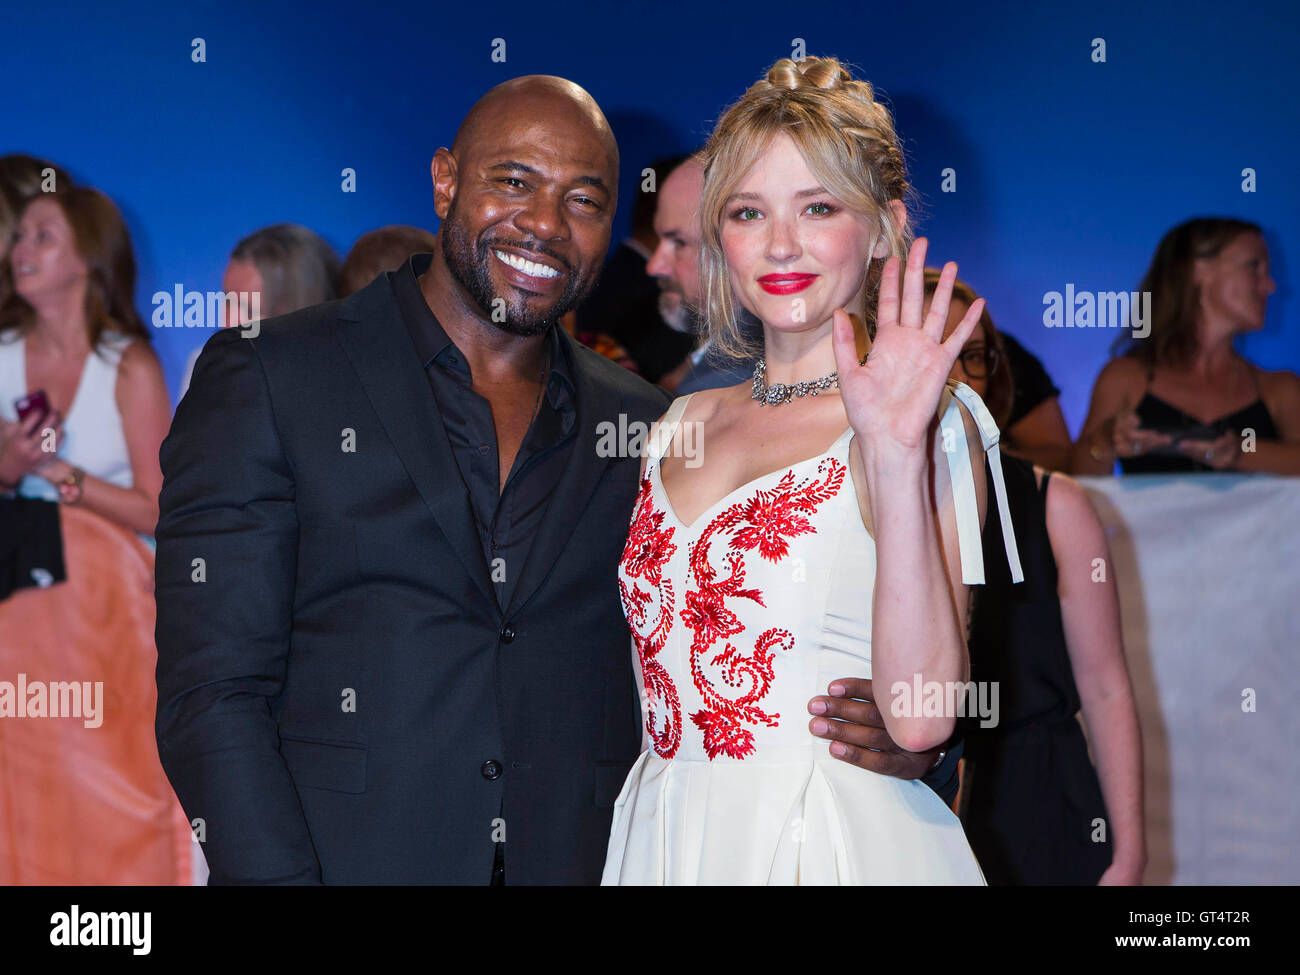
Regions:
[[[441,251],[504,332],[540,334],[595,286],[616,204],[610,142],[577,105],[545,92],[494,103],[458,136]]]

